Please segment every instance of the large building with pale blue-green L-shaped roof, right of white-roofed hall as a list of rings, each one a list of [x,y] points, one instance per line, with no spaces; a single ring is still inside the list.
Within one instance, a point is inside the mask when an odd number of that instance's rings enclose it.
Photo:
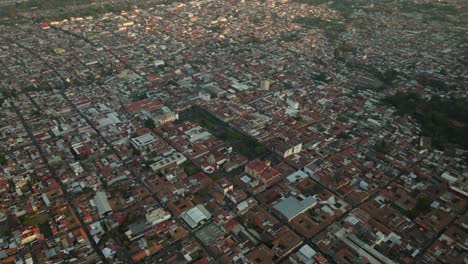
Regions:
[[[289,196],[275,204],[273,208],[289,222],[296,216],[314,207],[316,204],[317,200],[312,196],[301,196],[300,199]]]

